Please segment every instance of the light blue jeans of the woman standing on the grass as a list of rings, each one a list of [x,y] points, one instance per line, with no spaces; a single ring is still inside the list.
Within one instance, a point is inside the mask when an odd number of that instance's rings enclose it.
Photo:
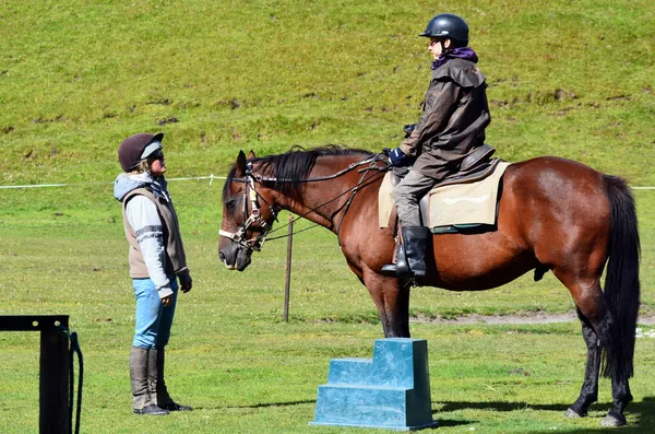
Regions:
[[[178,294],[178,283],[175,274],[169,275],[168,280],[172,290],[172,303],[169,306],[164,306],[152,280],[132,279],[134,297],[136,298],[136,314],[134,315],[136,325],[132,347],[153,350],[168,343]]]

